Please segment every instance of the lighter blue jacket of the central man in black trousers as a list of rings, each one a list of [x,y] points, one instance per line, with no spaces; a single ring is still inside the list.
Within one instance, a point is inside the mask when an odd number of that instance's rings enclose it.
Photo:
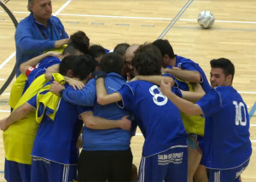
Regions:
[[[125,84],[125,79],[116,73],[109,73],[105,78],[105,86],[108,94],[113,94]],[[131,113],[119,108],[115,103],[99,105],[96,102],[96,81],[91,79],[79,92],[64,90],[62,98],[77,105],[93,107],[95,117],[118,120],[124,116],[131,116]],[[113,129],[90,129],[84,127],[83,149],[86,151],[123,151],[130,147],[131,132],[120,128]]]

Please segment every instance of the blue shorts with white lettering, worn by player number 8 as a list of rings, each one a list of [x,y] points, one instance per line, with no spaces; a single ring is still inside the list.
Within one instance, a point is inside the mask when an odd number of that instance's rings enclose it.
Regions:
[[[138,181],[188,181],[188,148],[173,147],[154,156],[142,157]]]

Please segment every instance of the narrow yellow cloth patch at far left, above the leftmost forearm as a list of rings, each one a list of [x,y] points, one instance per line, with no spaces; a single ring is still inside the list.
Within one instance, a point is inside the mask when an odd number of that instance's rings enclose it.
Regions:
[[[15,105],[20,100],[23,89],[26,84],[26,76],[23,74],[20,74],[19,77],[15,80],[9,96],[9,106],[11,108],[15,108]]]

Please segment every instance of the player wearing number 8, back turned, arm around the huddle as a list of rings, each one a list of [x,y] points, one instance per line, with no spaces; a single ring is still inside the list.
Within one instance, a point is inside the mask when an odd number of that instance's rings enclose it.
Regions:
[[[161,54],[152,44],[141,45],[133,60],[139,75],[160,75]],[[145,142],[138,181],[188,181],[187,144],[183,122],[175,105],[152,82],[124,84],[116,93],[107,94],[104,80],[96,80],[97,101],[119,105],[138,118]]]

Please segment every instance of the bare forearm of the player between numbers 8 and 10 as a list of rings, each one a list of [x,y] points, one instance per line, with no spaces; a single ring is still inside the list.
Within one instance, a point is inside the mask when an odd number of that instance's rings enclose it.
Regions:
[[[180,70],[180,69],[170,69],[165,68],[163,72],[171,74],[173,77],[177,77],[186,82],[200,82],[201,75],[197,71],[188,71],[188,70]]]

